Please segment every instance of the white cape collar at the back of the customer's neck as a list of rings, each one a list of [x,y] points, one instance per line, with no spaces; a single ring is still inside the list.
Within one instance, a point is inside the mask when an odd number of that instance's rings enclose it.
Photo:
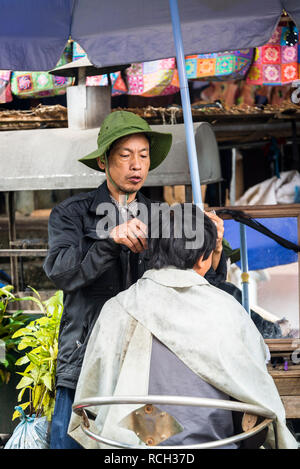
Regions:
[[[147,270],[142,278],[147,278],[153,282],[173,288],[209,285],[208,281],[201,275],[197,274],[193,269],[182,270],[173,266],[165,267],[160,270]]]

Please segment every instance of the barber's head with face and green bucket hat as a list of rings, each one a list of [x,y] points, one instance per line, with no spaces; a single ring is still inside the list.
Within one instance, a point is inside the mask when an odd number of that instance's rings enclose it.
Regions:
[[[132,112],[113,111],[102,122],[97,143],[97,150],[79,161],[94,170],[105,171],[109,189],[114,187],[119,193],[130,194],[139,190],[148,171],[165,159],[172,134],[153,131]]]

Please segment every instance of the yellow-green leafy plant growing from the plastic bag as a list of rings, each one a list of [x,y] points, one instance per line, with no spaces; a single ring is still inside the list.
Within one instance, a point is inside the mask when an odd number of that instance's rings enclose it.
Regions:
[[[46,416],[51,420],[55,403],[55,372],[58,350],[58,331],[63,311],[63,292],[57,291],[51,298],[41,301],[34,300],[40,307],[43,316],[31,321],[26,327],[19,329],[13,338],[19,338],[18,350],[29,349],[16,362],[17,366],[27,365],[25,370],[18,372],[22,376],[17,385],[20,389],[18,402],[28,394],[28,400],[20,407],[29,410],[29,415]],[[24,299],[24,298],[23,298]],[[13,414],[13,420],[20,416],[19,411]]]

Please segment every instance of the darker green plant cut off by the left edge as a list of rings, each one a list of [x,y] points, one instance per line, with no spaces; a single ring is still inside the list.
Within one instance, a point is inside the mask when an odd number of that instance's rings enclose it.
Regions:
[[[13,314],[7,312],[9,304],[21,300],[14,296],[13,288],[12,285],[0,288],[0,385],[9,382],[19,355],[17,346],[20,339],[12,336],[31,320],[31,317],[23,314],[21,310]]]

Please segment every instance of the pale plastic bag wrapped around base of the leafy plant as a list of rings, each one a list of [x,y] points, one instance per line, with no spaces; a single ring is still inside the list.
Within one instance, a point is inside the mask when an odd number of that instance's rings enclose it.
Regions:
[[[21,413],[21,422],[15,428],[4,449],[48,449],[49,422],[46,417],[25,415],[23,409],[15,407]]]

